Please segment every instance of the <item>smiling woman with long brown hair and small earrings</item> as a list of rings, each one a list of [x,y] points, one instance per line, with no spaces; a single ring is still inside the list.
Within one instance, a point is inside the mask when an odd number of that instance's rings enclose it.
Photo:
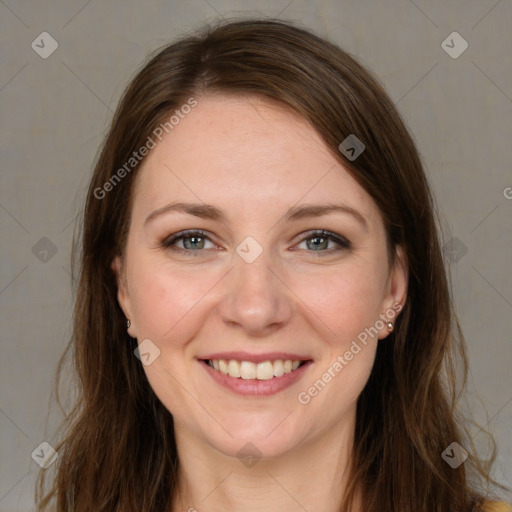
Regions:
[[[331,43],[255,20],[161,50],[114,116],[81,257],[80,399],[39,510],[509,510],[454,412],[417,150]]]

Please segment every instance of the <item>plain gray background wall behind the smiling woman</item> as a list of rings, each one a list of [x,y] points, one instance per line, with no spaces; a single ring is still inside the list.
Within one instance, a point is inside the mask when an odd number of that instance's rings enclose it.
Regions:
[[[73,225],[119,96],[174,36],[249,15],[330,37],[374,71],[405,117],[443,215],[469,403],[498,442],[495,477],[512,482],[509,0],[0,0],[1,511],[34,509],[31,453],[56,441],[62,415],[49,400],[70,334]],[[46,59],[31,47],[44,31],[59,45]],[[469,44],[458,58],[441,46],[453,31]]]

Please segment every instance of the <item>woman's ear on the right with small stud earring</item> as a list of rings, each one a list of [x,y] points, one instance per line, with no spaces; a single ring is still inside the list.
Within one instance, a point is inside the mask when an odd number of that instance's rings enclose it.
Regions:
[[[381,318],[384,321],[395,323],[396,318],[402,311],[407,300],[407,283],[409,281],[409,270],[407,257],[403,247],[398,245],[395,252],[395,261],[387,281],[387,291],[382,303]],[[379,339],[389,335],[387,326],[379,333]]]

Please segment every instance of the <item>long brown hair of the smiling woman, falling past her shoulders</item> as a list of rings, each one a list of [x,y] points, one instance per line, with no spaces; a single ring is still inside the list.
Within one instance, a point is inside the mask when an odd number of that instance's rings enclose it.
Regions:
[[[379,207],[391,254],[397,245],[406,254],[407,301],[394,332],[378,344],[358,399],[340,510],[350,510],[358,489],[366,512],[480,510],[489,465],[470,449],[455,412],[457,361],[462,385],[467,373],[465,342],[415,144],[381,85],[352,56],[278,20],[223,22],[186,36],[158,51],[124,93],[90,182],[74,331],[58,365],[57,400],[72,350],[79,398],[61,426],[46,495],[50,470],[39,476],[38,510],[54,498],[59,512],[168,510],[179,464],[173,418],[133,355],[136,342],[126,333],[111,264],[124,251],[140,168],[126,163],[176,109],[208,92],[260,95],[309,121]],[[365,145],[354,161],[338,149],[350,134]],[[452,442],[470,452],[456,469],[441,457]]]

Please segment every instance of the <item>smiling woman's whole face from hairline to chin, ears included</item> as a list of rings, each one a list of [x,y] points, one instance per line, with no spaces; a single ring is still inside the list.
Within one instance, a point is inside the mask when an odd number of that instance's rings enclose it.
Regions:
[[[353,424],[382,319],[406,293],[376,205],[319,135],[222,95],[146,157],[114,268],[176,432],[228,455],[250,442],[279,456]]]

